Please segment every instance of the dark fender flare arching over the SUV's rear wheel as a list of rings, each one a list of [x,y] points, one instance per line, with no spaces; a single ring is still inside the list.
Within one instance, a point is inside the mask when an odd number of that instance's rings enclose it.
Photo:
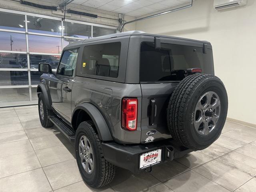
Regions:
[[[90,103],[82,103],[79,106],[76,106],[76,108],[73,110],[72,118],[73,118],[74,112],[78,109],[84,110],[90,116],[90,118],[94,122],[94,125],[97,129],[100,140],[102,141],[113,140],[110,130],[108,128],[108,125],[106,123],[106,120],[94,105]]]

